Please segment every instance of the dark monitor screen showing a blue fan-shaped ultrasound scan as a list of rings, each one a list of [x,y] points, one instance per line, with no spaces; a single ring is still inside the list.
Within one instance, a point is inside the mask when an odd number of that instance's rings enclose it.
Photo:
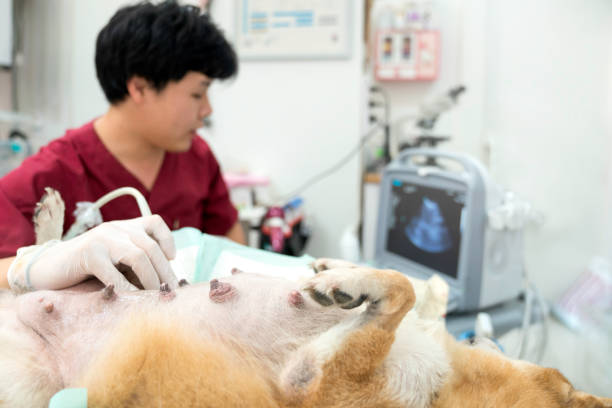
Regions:
[[[457,277],[465,192],[393,180],[389,252]]]

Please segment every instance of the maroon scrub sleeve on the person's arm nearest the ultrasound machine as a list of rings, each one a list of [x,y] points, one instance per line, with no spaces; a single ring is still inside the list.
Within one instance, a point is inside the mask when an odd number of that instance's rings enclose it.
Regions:
[[[225,235],[238,220],[238,211],[230,201],[227,185],[214,158],[211,160],[209,171],[212,177],[208,187],[208,197],[204,202],[203,230],[212,235]]]

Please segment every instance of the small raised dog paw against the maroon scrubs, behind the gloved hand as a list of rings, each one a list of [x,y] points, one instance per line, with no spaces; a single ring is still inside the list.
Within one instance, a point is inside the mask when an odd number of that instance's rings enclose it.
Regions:
[[[36,244],[62,238],[64,210],[64,200],[62,200],[59,192],[50,187],[45,187],[45,194],[34,209],[33,221]]]

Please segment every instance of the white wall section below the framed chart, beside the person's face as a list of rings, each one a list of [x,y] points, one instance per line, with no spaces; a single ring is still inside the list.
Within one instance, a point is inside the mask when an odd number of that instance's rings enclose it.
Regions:
[[[213,127],[205,132],[226,170],[266,175],[284,197],[336,164],[362,129],[363,2],[352,2],[348,59],[241,61],[233,81],[213,86]],[[233,38],[236,2],[213,16]],[[359,156],[303,192],[314,256],[340,256],[340,237],[359,222]]]

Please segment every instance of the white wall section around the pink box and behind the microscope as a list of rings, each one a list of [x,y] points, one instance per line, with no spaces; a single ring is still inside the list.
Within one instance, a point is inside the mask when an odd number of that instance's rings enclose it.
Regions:
[[[401,10],[406,3],[405,0],[378,0],[371,13],[371,36],[385,8]],[[440,115],[433,134],[451,137],[441,145],[444,149],[486,160],[482,132],[486,1],[439,0],[432,4],[430,26],[440,35],[438,77],[433,81],[378,83],[391,101],[392,139],[401,143],[407,137],[420,134],[421,131],[411,126],[414,122],[410,118],[418,115],[422,105],[431,104],[457,85],[464,85],[467,92],[461,95],[457,105]]]

